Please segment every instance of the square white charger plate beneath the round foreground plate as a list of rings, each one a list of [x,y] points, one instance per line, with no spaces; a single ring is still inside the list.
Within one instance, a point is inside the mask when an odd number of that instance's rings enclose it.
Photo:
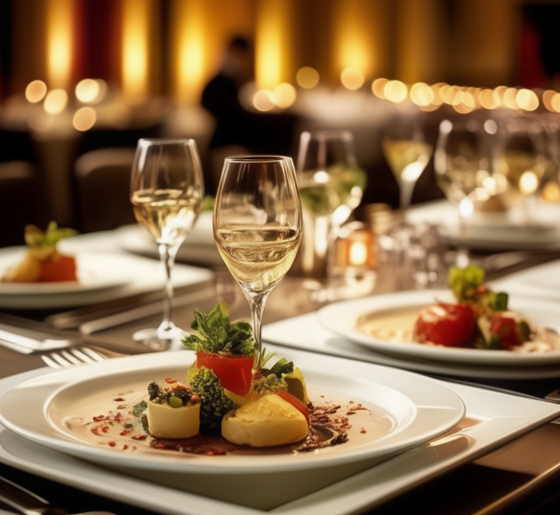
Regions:
[[[371,366],[371,370],[375,374],[378,367]],[[44,374],[53,374],[52,369],[43,368],[1,379],[0,391]],[[224,503],[185,492],[179,487],[156,484],[148,478],[137,479],[126,472],[112,471],[38,445],[2,426],[0,462],[70,487],[168,515],[346,515],[372,509],[388,498],[403,494],[460,463],[467,463],[560,414],[560,406],[551,403],[462,384],[442,384],[460,395],[467,406],[468,415],[451,436],[444,435],[428,445],[414,447],[270,510]],[[208,478],[213,479],[212,476]]]

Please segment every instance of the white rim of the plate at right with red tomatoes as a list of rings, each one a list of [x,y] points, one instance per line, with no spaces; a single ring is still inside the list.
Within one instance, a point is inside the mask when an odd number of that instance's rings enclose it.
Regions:
[[[403,298],[409,298],[410,301],[404,302]],[[517,354],[506,350],[460,349],[424,345],[418,342],[388,342],[361,333],[355,327],[356,319],[364,316],[367,312],[374,312],[376,310],[374,308],[377,308],[378,311],[384,311],[391,310],[400,305],[405,309],[416,305],[428,305],[428,303],[436,302],[436,299],[444,302],[453,301],[452,292],[444,289],[407,290],[390,294],[371,295],[350,301],[333,302],[317,310],[317,319],[319,324],[328,331],[338,334],[351,342],[391,356],[420,358],[437,361],[438,363],[460,362],[477,366],[550,366],[554,363],[560,364],[560,350],[552,350],[548,353],[540,354]],[[388,302],[388,304],[380,306],[383,302]],[[531,302],[534,305],[549,303],[536,299],[529,301],[520,298],[514,298],[510,302]],[[363,304],[362,308],[359,308],[360,304]],[[355,310],[356,314],[350,322],[348,320],[348,311],[352,310]]]

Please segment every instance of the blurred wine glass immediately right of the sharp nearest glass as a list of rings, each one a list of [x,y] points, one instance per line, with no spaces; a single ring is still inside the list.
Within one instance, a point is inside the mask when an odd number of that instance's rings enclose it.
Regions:
[[[300,136],[297,169],[305,221],[301,269],[310,278],[328,278],[334,240],[364,194],[367,177],[352,145],[348,131]]]

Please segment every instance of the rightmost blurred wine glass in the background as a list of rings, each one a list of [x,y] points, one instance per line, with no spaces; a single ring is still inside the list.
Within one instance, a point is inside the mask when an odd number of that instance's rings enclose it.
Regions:
[[[508,118],[501,127],[500,173],[508,180],[509,197],[524,207],[532,225],[532,207],[542,183],[555,171],[545,128],[534,117]]]

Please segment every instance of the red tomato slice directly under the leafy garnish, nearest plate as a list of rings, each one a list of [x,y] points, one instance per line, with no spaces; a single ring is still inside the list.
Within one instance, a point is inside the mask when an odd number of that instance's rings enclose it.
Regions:
[[[245,356],[220,356],[199,350],[196,352],[196,368],[205,366],[213,370],[221,385],[237,395],[246,395],[251,389],[254,359]]]

